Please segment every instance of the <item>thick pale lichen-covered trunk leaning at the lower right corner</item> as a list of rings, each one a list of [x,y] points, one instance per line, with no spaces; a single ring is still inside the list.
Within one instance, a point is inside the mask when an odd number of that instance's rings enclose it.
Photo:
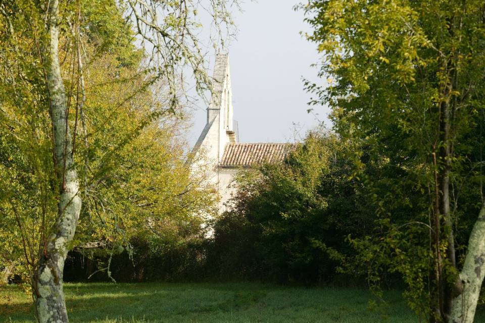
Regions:
[[[485,205],[468,240],[468,251],[460,273],[461,293],[453,298],[449,323],[472,323],[485,276]]]

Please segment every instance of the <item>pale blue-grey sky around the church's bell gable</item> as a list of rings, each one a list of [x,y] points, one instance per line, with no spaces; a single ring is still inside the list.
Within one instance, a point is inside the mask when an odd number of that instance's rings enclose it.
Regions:
[[[299,34],[308,30],[303,13],[295,12],[295,0],[260,0],[242,4],[236,12],[237,39],[227,50],[232,80],[234,120],[239,125],[241,142],[286,142],[294,139],[294,125],[303,136],[318,125],[307,113],[310,94],[303,90],[302,76],[316,78],[315,45]],[[213,68],[214,53],[209,56]],[[323,80],[320,80],[322,82]],[[188,135],[192,145],[206,123],[203,101],[194,107],[193,126]],[[326,126],[328,108],[315,107]]]

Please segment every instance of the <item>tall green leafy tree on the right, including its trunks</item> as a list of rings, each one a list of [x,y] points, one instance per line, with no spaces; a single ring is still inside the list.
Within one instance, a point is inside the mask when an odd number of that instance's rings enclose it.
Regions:
[[[371,147],[365,163],[357,151],[359,167],[387,165],[405,175],[375,198],[389,238],[381,241],[406,242],[409,248],[394,245],[391,266],[404,277],[429,278],[430,321],[472,322],[485,263],[485,206],[477,172],[483,141],[481,135],[470,140],[483,123],[483,4],[316,0],[300,8],[313,28],[308,39],[323,53],[320,76],[329,83],[326,88],[306,83],[317,94],[313,103],[329,102],[336,131]],[[374,187],[385,180],[366,179]],[[405,200],[402,184],[410,181],[427,203]],[[463,187],[475,191],[467,196],[475,200],[464,203],[475,207],[459,203]],[[398,204],[384,201],[393,198],[390,191],[400,191],[394,199],[409,204],[412,221],[393,218]],[[459,228],[471,215],[460,209],[475,211],[465,230]],[[413,235],[406,236],[410,230]],[[417,232],[423,236],[413,240]],[[466,252],[457,241],[468,241]],[[418,256],[425,265],[404,265],[415,243],[428,250]],[[428,256],[432,262],[426,264]],[[425,285],[415,290],[416,300]]]

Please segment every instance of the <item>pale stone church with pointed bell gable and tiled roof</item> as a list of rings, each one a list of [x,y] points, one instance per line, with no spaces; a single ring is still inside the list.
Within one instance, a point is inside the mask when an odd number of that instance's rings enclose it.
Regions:
[[[207,108],[207,124],[193,147],[197,166],[207,166],[209,181],[217,186],[219,213],[235,193],[230,185],[234,175],[263,162],[281,162],[294,145],[287,143],[240,143],[237,123],[232,119],[232,89],[229,58],[217,54],[213,76],[213,95]],[[199,155],[199,156],[198,156]],[[200,165],[200,164],[203,165]]]

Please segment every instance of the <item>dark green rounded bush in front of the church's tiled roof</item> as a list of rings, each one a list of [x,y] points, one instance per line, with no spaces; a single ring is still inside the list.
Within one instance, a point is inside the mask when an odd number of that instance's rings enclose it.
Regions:
[[[372,230],[346,152],[335,135],[315,132],[282,165],[242,173],[234,210],[215,225],[216,250],[227,245],[217,263],[232,262],[233,272],[252,277],[329,282],[337,264],[319,246],[345,254],[347,235]]]

